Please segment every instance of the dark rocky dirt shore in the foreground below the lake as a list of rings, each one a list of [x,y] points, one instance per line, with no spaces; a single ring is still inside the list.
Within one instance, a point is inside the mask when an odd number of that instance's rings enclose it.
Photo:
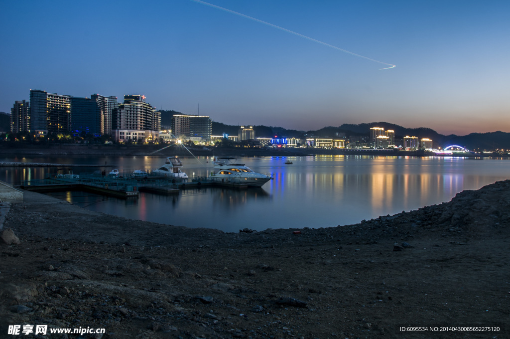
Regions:
[[[78,337],[13,324],[105,339],[510,337],[510,181],[361,224],[251,233],[24,200],[4,225],[21,244],[0,245],[0,337]]]

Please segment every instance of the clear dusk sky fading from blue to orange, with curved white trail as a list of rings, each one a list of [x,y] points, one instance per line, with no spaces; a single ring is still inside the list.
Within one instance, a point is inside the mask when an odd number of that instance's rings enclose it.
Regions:
[[[0,0],[0,111],[41,89],[228,125],[510,132],[507,0],[207,2],[288,31],[191,0]]]

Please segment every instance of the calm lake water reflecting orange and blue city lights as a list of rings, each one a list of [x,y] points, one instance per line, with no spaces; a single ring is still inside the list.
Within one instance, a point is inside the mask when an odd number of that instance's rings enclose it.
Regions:
[[[0,157],[0,161],[94,164],[72,167],[74,174],[117,168],[154,169],[165,157]],[[212,158],[181,158],[183,172],[207,176]],[[285,164],[291,159],[293,164]],[[334,227],[359,223],[449,201],[457,192],[478,189],[510,177],[505,159],[446,157],[310,156],[240,158],[255,172],[272,173],[262,188],[233,190],[201,188],[175,196],[140,193],[137,199],[118,200],[83,192],[50,193],[78,206],[132,219],[176,226],[216,228],[237,232],[250,228]],[[57,167],[0,167],[0,180],[44,178]]]

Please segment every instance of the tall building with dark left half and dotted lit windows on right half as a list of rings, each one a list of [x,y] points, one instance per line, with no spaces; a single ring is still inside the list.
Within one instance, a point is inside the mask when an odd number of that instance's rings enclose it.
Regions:
[[[30,90],[30,122],[33,132],[71,130],[71,96]]]

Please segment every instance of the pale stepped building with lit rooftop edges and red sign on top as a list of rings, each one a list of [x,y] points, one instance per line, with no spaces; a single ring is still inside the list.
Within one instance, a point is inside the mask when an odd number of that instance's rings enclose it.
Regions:
[[[145,95],[124,95],[112,110],[112,136],[116,141],[158,140],[161,113],[145,102]]]

